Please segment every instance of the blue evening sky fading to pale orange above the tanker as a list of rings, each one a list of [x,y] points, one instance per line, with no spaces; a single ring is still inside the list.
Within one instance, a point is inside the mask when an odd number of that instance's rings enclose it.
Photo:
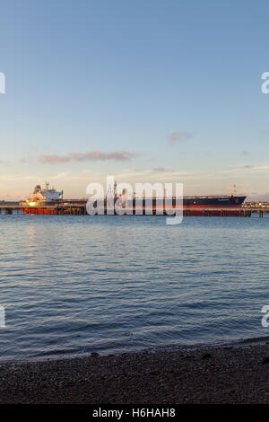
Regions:
[[[267,0],[0,0],[0,199],[48,180],[269,200]]]

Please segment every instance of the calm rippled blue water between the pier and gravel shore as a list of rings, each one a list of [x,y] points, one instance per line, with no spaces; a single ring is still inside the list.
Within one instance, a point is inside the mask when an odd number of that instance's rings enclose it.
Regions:
[[[0,215],[2,360],[269,335],[269,218]]]

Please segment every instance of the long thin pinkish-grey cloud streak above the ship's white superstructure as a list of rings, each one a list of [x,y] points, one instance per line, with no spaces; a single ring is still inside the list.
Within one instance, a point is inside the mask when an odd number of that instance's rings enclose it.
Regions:
[[[126,162],[132,160],[137,154],[128,151],[115,151],[114,153],[102,153],[100,151],[88,151],[87,153],[69,153],[40,155],[39,163],[42,164],[59,164],[70,162],[87,162],[87,161],[116,161]]]

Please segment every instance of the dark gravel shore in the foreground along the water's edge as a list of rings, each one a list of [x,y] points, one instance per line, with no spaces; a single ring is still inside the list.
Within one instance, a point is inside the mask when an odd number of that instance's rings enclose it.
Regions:
[[[0,365],[0,403],[269,403],[269,346]]]

